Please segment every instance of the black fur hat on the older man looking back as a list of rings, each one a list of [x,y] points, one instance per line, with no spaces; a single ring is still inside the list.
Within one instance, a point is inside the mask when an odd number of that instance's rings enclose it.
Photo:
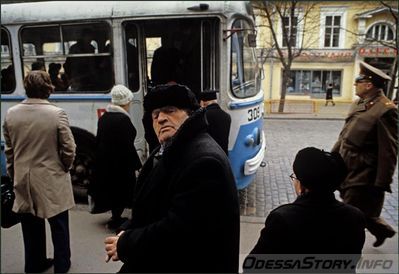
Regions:
[[[184,85],[159,85],[154,87],[144,97],[144,110],[146,112],[151,113],[154,109],[165,106],[174,106],[192,111],[200,107],[194,93]]]

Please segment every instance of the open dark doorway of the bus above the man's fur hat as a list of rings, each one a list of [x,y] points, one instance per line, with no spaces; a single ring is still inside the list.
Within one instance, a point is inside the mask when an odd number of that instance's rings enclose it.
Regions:
[[[174,82],[187,85],[196,95],[204,89],[217,89],[218,25],[217,19],[210,18],[125,22],[129,88],[142,96],[156,85]],[[156,138],[153,132],[148,134],[152,125],[144,128],[150,143]]]

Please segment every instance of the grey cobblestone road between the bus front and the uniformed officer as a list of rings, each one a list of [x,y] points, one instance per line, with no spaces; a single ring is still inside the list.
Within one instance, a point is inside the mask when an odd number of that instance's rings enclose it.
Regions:
[[[265,119],[266,167],[257,173],[256,184],[248,191],[249,204],[245,215],[267,216],[280,204],[295,199],[289,175],[298,150],[315,146],[330,150],[337,140],[344,120],[317,119]],[[392,225],[398,226],[398,175],[392,185],[393,193],[387,193],[382,216]],[[256,197],[254,201],[252,198]],[[255,206],[256,213],[248,210]]]

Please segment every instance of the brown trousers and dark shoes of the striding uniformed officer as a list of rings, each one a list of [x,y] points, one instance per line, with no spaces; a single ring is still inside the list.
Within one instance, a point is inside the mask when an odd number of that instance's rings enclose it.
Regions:
[[[374,236],[386,236],[394,229],[380,217],[384,206],[385,191],[374,186],[356,186],[341,190],[341,197],[347,204],[359,208],[366,216],[366,228]]]

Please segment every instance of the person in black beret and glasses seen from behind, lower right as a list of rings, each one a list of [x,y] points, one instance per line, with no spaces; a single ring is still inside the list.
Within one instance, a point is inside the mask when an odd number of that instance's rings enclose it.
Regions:
[[[365,241],[365,217],[356,207],[335,199],[334,190],[347,175],[342,157],[307,147],[297,153],[293,170],[290,178],[297,199],[271,211],[243,269],[256,271],[254,260],[262,254],[351,254],[345,258],[355,265]],[[350,267],[337,270],[355,272]]]

